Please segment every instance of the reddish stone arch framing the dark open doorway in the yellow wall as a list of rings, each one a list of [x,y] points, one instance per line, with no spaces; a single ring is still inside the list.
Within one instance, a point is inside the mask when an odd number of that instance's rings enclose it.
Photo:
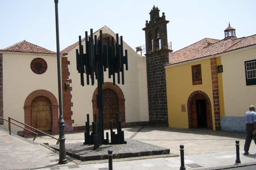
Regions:
[[[212,117],[212,105],[210,98],[203,91],[197,90],[190,94],[187,100],[187,114],[188,114],[188,128],[193,128],[193,114],[196,114],[195,100],[205,100],[206,115],[207,115],[207,127],[213,129],[213,117]]]

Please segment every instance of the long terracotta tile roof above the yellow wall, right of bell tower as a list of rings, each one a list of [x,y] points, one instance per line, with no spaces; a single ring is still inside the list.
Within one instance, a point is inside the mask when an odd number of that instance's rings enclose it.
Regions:
[[[256,34],[249,37],[231,37],[222,40],[204,38],[188,47],[173,52],[172,63],[166,64],[165,66],[199,59],[210,55],[217,55],[252,45],[256,45]]]

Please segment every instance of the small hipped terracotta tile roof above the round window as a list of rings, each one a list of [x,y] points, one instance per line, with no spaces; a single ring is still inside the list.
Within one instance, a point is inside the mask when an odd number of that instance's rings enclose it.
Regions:
[[[29,43],[25,40],[19,43],[13,44],[10,47],[0,49],[0,51],[56,54],[56,52],[54,51],[47,50],[46,48]]]

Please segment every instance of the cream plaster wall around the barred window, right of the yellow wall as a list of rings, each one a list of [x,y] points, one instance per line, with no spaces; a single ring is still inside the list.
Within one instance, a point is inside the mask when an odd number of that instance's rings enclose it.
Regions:
[[[246,85],[244,61],[256,59],[256,48],[221,56],[226,116],[244,116],[256,105],[256,85]]]

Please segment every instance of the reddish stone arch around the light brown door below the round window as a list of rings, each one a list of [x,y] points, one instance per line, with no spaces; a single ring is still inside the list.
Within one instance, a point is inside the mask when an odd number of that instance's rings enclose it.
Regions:
[[[47,90],[35,90],[30,93],[25,102],[24,102],[24,123],[31,126],[31,113],[32,113],[32,101],[37,97],[45,97],[48,98],[51,102],[51,111],[52,111],[52,133],[58,133],[58,101],[56,97]],[[31,136],[32,133],[24,130],[24,136]]]

